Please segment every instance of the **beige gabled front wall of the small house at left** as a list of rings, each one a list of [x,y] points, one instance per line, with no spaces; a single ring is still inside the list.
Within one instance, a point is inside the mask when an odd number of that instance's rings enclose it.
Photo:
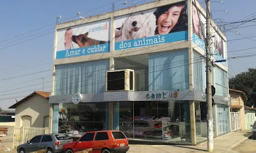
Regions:
[[[21,117],[25,115],[32,117],[31,127],[43,127],[43,117],[49,115],[49,110],[48,100],[40,95],[35,95],[16,107],[15,127],[22,126]]]

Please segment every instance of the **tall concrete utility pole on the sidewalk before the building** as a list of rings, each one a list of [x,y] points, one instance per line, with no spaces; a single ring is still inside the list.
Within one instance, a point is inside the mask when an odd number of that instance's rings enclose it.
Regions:
[[[211,95],[211,14],[210,0],[206,0],[206,103],[207,103],[207,150],[213,152],[213,113]]]

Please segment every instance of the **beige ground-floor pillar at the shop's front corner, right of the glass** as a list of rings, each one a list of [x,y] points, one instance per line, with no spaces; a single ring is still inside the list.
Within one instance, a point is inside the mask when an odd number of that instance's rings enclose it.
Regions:
[[[191,122],[191,143],[196,145],[196,118],[195,118],[195,107],[194,101],[189,101],[190,108],[190,122]]]

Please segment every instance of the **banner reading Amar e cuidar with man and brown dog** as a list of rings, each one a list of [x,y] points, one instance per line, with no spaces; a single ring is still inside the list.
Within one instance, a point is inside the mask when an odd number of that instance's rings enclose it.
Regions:
[[[56,59],[109,52],[109,19],[57,31]]]

